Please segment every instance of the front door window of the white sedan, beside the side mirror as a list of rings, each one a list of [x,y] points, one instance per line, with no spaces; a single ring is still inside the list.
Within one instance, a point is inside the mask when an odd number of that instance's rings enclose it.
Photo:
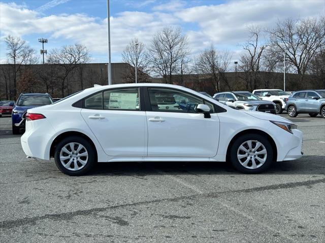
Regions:
[[[164,88],[148,88],[152,111],[197,113],[198,104],[206,104],[214,112],[214,105],[191,94]]]

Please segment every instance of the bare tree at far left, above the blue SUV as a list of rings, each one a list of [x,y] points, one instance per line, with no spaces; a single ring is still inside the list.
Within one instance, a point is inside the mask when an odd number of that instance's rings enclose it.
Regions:
[[[17,72],[20,70],[22,64],[29,63],[35,54],[35,50],[30,48],[26,42],[20,37],[13,37],[8,35],[5,37],[5,43],[7,45],[7,56],[8,62],[13,65],[13,76],[14,76],[14,99],[16,99],[16,83],[17,83]]]

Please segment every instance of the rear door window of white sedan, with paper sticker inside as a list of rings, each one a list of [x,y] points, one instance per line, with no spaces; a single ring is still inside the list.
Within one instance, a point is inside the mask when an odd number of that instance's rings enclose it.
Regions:
[[[104,91],[105,110],[140,110],[139,89],[117,89]]]

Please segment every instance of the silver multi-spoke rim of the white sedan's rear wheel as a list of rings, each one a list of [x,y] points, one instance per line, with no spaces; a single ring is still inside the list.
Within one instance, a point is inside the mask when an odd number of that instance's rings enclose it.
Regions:
[[[81,170],[87,164],[88,151],[80,143],[68,143],[61,148],[60,161],[70,171]]]

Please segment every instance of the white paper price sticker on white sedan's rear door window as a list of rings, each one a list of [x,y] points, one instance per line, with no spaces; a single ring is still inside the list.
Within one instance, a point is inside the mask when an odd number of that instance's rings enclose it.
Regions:
[[[136,110],[138,93],[111,93],[109,109]]]

